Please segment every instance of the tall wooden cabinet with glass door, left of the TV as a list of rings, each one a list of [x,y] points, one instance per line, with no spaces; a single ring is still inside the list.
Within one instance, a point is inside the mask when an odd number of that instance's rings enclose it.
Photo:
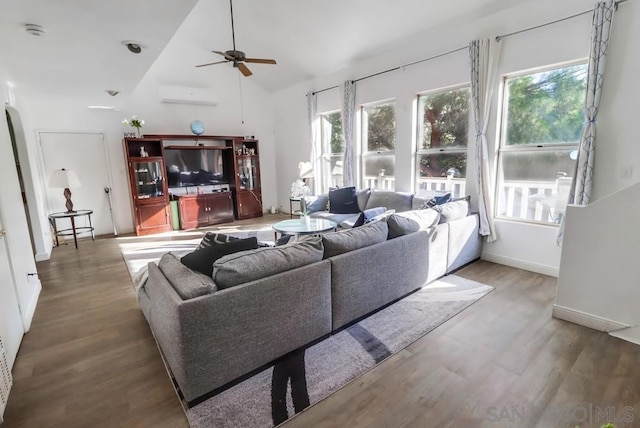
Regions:
[[[125,154],[133,202],[136,235],[168,232],[171,212],[162,141],[150,138],[125,138]]]

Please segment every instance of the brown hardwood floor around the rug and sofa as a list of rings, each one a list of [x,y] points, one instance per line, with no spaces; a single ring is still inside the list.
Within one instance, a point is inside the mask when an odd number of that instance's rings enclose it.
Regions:
[[[38,263],[3,428],[188,426],[118,242]],[[555,278],[483,261],[458,275],[495,290],[286,426],[640,426],[640,346],[551,318]]]

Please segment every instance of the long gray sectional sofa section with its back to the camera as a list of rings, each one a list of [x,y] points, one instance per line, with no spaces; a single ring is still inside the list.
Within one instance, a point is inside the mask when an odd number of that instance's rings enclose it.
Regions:
[[[166,255],[149,264],[138,297],[193,404],[479,258],[481,246],[478,216],[463,200],[230,254],[212,278]]]

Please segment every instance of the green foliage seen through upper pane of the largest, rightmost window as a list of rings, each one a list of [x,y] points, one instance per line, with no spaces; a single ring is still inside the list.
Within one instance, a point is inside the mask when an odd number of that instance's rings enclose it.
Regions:
[[[576,142],[584,122],[587,66],[507,80],[508,145]]]

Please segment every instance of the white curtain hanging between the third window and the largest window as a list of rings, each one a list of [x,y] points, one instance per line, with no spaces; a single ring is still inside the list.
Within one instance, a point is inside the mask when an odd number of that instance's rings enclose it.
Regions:
[[[489,170],[489,150],[487,147],[487,126],[491,100],[496,83],[499,41],[474,40],[469,45],[471,57],[471,103],[476,128],[476,188],[478,192],[478,213],[480,216],[480,234],[488,242],[497,239],[493,223],[493,191],[491,171]]]

